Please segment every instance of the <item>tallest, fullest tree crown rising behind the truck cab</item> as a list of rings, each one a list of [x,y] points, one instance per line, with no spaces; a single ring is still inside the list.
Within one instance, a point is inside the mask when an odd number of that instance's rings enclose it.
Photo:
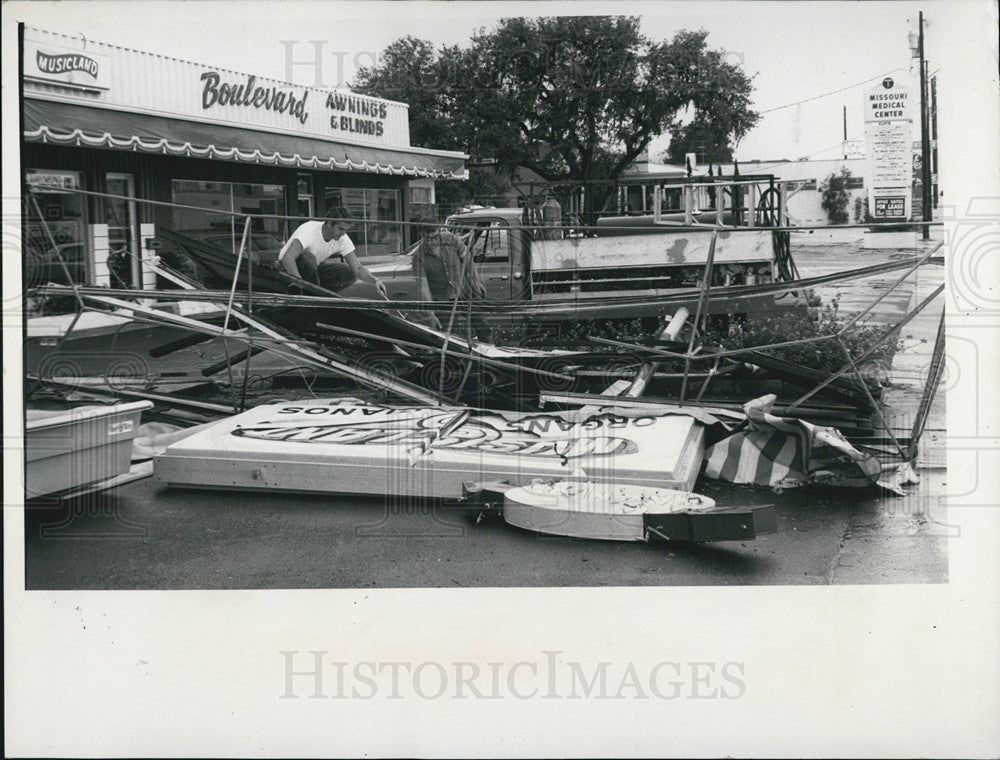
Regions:
[[[706,37],[654,43],[634,17],[504,19],[473,36],[460,65],[472,76],[448,80],[470,106],[459,130],[547,180],[617,177],[688,108],[742,136],[756,119],[750,80]]]

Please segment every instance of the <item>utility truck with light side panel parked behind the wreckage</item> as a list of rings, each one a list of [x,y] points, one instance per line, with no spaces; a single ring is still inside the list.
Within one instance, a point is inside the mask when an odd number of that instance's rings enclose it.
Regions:
[[[670,221],[670,220],[666,220]],[[695,311],[697,296],[669,307],[660,296],[697,290],[705,275],[713,234],[717,234],[712,268],[713,294],[718,288],[763,285],[786,277],[781,233],[767,228],[659,226],[645,217],[605,217],[590,234],[538,229],[525,224],[521,208],[480,208],[453,214],[447,229],[462,236],[473,257],[486,301],[492,304],[532,304],[543,320],[621,317],[628,299],[630,318],[660,318],[665,311],[686,306]],[[783,249],[782,246],[785,246]],[[363,259],[386,286],[390,300],[417,299],[411,259],[415,247],[394,257]],[[368,286],[355,284],[342,296],[364,297]],[[602,312],[600,303],[608,309]],[[579,309],[574,309],[574,305]],[[595,306],[596,305],[596,306]],[[749,314],[780,314],[804,310],[803,292],[751,295],[737,300],[709,300],[706,313],[716,320],[745,319]],[[545,307],[549,306],[550,309]],[[558,309],[556,309],[558,307]],[[491,309],[490,321],[503,323],[502,310]]]

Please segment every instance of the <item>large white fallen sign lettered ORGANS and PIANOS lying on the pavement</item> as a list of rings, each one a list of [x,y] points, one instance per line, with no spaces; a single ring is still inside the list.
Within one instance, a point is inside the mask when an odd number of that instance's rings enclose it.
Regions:
[[[172,486],[461,500],[469,481],[585,479],[690,491],[704,431],[691,416],[599,408],[516,413],[356,399],[255,407],[154,460]]]

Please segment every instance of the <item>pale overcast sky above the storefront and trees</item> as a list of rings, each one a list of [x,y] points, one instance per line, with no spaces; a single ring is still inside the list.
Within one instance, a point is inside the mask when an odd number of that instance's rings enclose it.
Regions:
[[[128,4],[36,2],[18,13],[52,31],[185,58],[300,85],[350,83],[390,42],[404,35],[435,45],[464,44],[505,16],[608,13],[608,3],[578,2],[206,2]],[[835,158],[847,137],[864,132],[862,94],[891,75],[916,77],[908,33],[926,17],[931,71],[947,74],[953,48],[935,39],[967,2],[634,2],[618,13],[642,18],[655,40],[682,29],[705,29],[708,44],[726,51],[754,76],[760,122],[737,146],[738,159]],[[135,10],[132,10],[135,9]],[[141,10],[140,10],[141,9]],[[10,4],[7,4],[8,14]],[[984,38],[995,27],[981,27]],[[954,42],[950,40],[949,42]],[[988,42],[991,47],[993,42]],[[320,71],[311,62],[320,54]],[[289,66],[289,58],[293,65]],[[296,65],[298,62],[298,65]],[[303,63],[307,62],[307,63]],[[956,62],[956,65],[957,62]],[[957,72],[956,72],[957,73]],[[802,102],[805,101],[805,102]],[[469,107],[474,107],[470,103]],[[667,140],[651,145],[656,157]]]

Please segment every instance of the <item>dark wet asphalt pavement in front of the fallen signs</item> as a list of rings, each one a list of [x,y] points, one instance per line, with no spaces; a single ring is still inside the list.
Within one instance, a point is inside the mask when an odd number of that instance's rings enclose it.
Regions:
[[[774,504],[752,541],[539,536],[454,506],[176,490],[150,478],[71,507],[32,507],[29,589],[413,588],[906,583],[947,580],[946,536],[919,498],[705,480],[727,504]],[[926,511],[926,510],[925,510]],[[932,511],[935,519],[939,517]],[[940,513],[943,519],[943,511]]]

